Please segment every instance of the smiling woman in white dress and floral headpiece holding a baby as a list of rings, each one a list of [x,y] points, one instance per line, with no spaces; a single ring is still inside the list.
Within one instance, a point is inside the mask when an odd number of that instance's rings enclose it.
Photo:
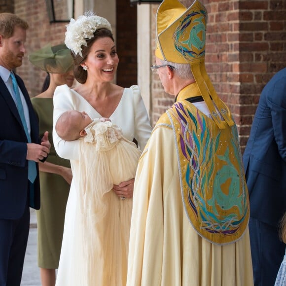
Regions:
[[[151,126],[139,87],[123,88],[112,83],[119,59],[111,26],[105,18],[89,13],[76,21],[72,19],[67,27],[65,43],[73,53],[75,78],[82,84],[74,89],[67,85],[57,87],[53,141],[58,155],[71,160],[72,173],[78,177],[79,142],[61,140],[55,131],[57,119],[63,112],[73,109],[86,111],[91,118],[107,117],[122,129],[127,140],[135,138],[141,150],[150,137]],[[118,166],[118,172],[122,168],[124,166]],[[104,172],[94,176],[104,176]],[[108,224],[97,227],[97,237],[93,242],[84,240],[78,208],[80,192],[76,185],[73,180],[56,285],[123,286],[126,284],[131,219],[128,206],[133,197],[134,179],[113,186],[113,196],[117,197],[118,203],[107,210]],[[86,257],[87,253],[89,257]],[[96,259],[90,259],[94,253]],[[96,265],[87,265],[88,269],[83,269],[86,259],[96,261]],[[89,275],[86,275],[87,270]]]

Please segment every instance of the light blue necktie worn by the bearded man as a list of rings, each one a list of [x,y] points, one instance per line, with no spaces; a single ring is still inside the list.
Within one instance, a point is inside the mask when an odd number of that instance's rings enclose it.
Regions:
[[[12,84],[13,84],[13,90],[16,96],[16,101],[17,101],[17,108],[18,108],[18,112],[28,139],[28,143],[31,143],[31,137],[28,131],[28,127],[27,127],[27,123],[26,123],[26,119],[25,119],[25,115],[24,115],[24,108],[22,105],[22,101],[21,101],[21,97],[20,97],[20,92],[19,92],[19,88],[18,88],[18,84],[17,84],[17,80],[16,77],[14,75],[13,72],[10,73],[11,79],[12,79]],[[28,160],[28,179],[31,183],[34,183],[35,179],[37,176],[37,170],[36,170],[36,162],[35,161],[31,161]]]

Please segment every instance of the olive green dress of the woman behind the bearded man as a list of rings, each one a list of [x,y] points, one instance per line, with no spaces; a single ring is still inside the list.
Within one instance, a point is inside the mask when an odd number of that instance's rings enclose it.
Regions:
[[[39,134],[49,131],[51,149],[47,162],[70,167],[70,161],[60,158],[52,140],[53,99],[32,98],[33,107],[39,120]],[[40,172],[41,206],[36,211],[38,228],[38,266],[57,269],[64,231],[64,220],[70,185],[57,174]]]

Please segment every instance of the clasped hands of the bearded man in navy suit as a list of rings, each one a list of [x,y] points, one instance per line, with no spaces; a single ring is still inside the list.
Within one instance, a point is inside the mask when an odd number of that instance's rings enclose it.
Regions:
[[[51,147],[48,135],[49,133],[46,131],[41,140],[41,144],[27,143],[27,160],[38,162],[48,156]]]

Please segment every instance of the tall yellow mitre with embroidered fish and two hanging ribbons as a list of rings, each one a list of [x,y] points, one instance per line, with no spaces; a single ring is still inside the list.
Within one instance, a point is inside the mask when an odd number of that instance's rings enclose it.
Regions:
[[[218,98],[205,68],[205,48],[208,13],[205,6],[195,0],[187,9],[179,0],[164,0],[156,15],[157,46],[155,56],[161,60],[190,64],[202,97],[212,118],[220,129],[225,122],[234,121]],[[214,104],[225,121],[218,116]]]

